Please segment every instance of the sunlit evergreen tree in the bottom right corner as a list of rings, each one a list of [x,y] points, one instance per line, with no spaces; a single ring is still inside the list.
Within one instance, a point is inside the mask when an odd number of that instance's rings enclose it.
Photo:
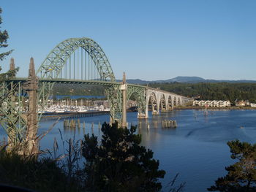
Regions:
[[[238,162],[227,166],[227,175],[219,177],[208,191],[250,192],[256,191],[256,144],[238,140],[227,142],[231,158]]]

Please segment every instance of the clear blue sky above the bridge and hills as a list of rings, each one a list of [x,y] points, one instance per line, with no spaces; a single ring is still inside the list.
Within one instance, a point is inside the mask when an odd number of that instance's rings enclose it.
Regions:
[[[256,80],[256,1],[2,0],[10,57],[28,75],[59,42],[94,39],[118,79]],[[3,52],[4,49],[1,49]],[[10,57],[1,61],[3,69]]]

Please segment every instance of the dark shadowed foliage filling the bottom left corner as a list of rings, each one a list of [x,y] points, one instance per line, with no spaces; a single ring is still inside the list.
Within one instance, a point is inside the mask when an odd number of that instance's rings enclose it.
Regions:
[[[82,191],[78,180],[69,178],[53,159],[25,157],[4,149],[0,151],[0,184],[35,191]]]

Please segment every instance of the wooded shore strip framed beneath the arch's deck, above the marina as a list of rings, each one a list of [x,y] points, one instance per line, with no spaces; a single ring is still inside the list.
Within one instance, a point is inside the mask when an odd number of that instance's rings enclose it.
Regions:
[[[104,96],[104,85],[56,84],[53,95],[61,96]]]

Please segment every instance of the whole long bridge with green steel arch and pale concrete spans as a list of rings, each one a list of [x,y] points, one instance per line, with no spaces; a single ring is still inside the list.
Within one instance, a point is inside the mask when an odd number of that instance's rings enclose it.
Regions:
[[[15,69],[11,59],[10,70]],[[126,121],[126,102],[137,101],[138,118],[148,118],[148,105],[153,115],[168,112],[173,107],[186,104],[192,99],[175,93],[117,82],[112,67],[102,48],[94,40],[83,38],[66,39],[56,45],[42,62],[37,72],[31,58],[29,78],[8,77],[1,81],[1,126],[14,135],[22,135],[28,126],[36,127],[53,86],[62,84],[105,85],[105,95],[110,103],[110,121]],[[29,102],[26,100],[29,99]],[[10,127],[15,127],[10,130]]]

